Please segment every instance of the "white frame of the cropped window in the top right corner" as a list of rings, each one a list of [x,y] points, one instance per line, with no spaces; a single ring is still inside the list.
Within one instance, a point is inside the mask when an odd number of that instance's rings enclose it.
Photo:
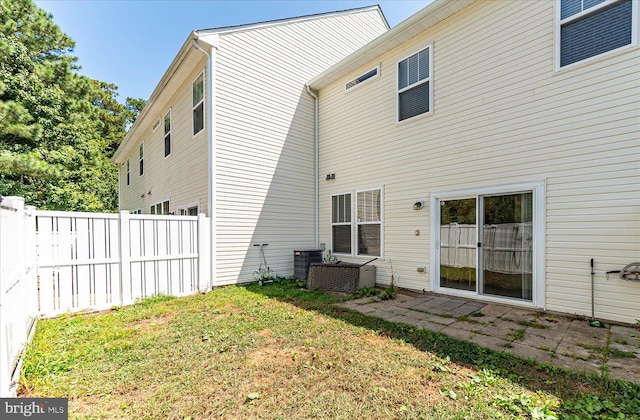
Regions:
[[[561,0],[556,1],[556,5],[555,5],[555,34],[554,34],[554,41],[555,41],[555,48],[554,48],[554,56],[555,56],[555,71],[556,72],[560,72],[563,70],[567,70],[567,69],[572,69],[578,66],[582,66],[582,65],[586,65],[595,61],[599,61],[599,60],[603,60],[607,57],[610,57],[612,55],[616,55],[616,54],[620,54],[624,51],[627,51],[629,49],[632,48],[636,48],[638,47],[638,40],[640,39],[640,28],[639,28],[639,24],[638,24],[638,15],[640,15],[640,2],[633,0],[631,2],[632,6],[632,22],[631,22],[631,44],[629,45],[624,45],[622,47],[616,48],[614,50],[611,51],[607,51],[598,55],[594,55],[593,57],[589,57],[589,58],[585,58],[584,60],[580,60],[580,61],[576,61],[575,63],[571,63],[571,64],[567,64],[566,66],[560,66],[560,52],[561,52],[561,28],[564,25],[567,25],[571,22],[573,22],[574,20],[578,20],[581,19],[584,16],[587,15],[591,15],[591,14],[596,14],[598,13],[599,10],[609,7],[610,5],[617,3],[618,1],[621,0],[607,0],[603,3],[600,3],[596,6],[590,7],[589,9],[583,10],[580,13],[576,13],[575,15],[569,16],[566,19],[562,19],[561,18],[561,9],[562,9],[562,4],[561,4]]]

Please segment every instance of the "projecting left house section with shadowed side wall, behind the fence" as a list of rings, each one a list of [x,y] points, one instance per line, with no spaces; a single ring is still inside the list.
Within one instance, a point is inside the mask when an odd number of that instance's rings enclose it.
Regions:
[[[116,151],[120,208],[207,213],[213,285],[280,275],[315,248],[305,83],[388,30],[379,7],[194,31]]]

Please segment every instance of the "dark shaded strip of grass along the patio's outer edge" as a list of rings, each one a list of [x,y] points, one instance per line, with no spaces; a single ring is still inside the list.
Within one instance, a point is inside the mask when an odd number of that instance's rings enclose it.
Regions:
[[[351,300],[353,297],[336,297],[319,290],[308,291],[296,282],[263,287],[250,284],[245,288],[319,315],[375,331],[390,339],[401,340],[420,351],[432,353],[443,359],[449,358],[452,362],[470,369],[488,369],[492,374],[520,384],[533,392],[545,391],[556,395],[563,401],[559,411],[568,418],[618,418],[617,415],[623,413],[625,417],[622,418],[640,419],[640,386],[637,384],[610,379],[607,375],[575,372],[548,363],[539,364],[445,334],[340,308],[334,303]]]

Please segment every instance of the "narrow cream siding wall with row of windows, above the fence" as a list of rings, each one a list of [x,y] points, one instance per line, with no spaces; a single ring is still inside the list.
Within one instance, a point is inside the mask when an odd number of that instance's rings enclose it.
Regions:
[[[136,133],[132,149],[131,184],[127,186],[127,167],[120,165],[120,197],[122,210],[142,209],[148,214],[151,205],[170,200],[170,212],[179,207],[199,205],[200,213],[207,213],[207,135],[206,129],[193,136],[192,83],[205,70],[204,55],[195,53],[200,64],[185,77],[184,82],[169,97],[162,98],[162,106],[150,113],[146,130]],[[206,78],[206,72],[205,72]],[[206,86],[206,81],[205,81]],[[206,87],[205,87],[206,89]],[[165,91],[170,94],[170,90]],[[206,93],[205,93],[206,94]],[[160,101],[158,101],[160,102]],[[171,154],[164,156],[164,116],[171,110]],[[206,110],[205,110],[206,112]],[[153,124],[160,119],[155,131]],[[132,138],[133,140],[133,138]],[[139,144],[144,141],[144,175],[138,167]],[[148,192],[151,191],[151,194]],[[144,197],[142,195],[144,194]]]

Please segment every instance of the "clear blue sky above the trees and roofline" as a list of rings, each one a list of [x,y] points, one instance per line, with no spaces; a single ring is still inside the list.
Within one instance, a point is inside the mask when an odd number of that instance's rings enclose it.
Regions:
[[[429,0],[36,0],[75,42],[81,74],[118,86],[120,102],[148,99],[194,29],[379,4],[391,27]]]

